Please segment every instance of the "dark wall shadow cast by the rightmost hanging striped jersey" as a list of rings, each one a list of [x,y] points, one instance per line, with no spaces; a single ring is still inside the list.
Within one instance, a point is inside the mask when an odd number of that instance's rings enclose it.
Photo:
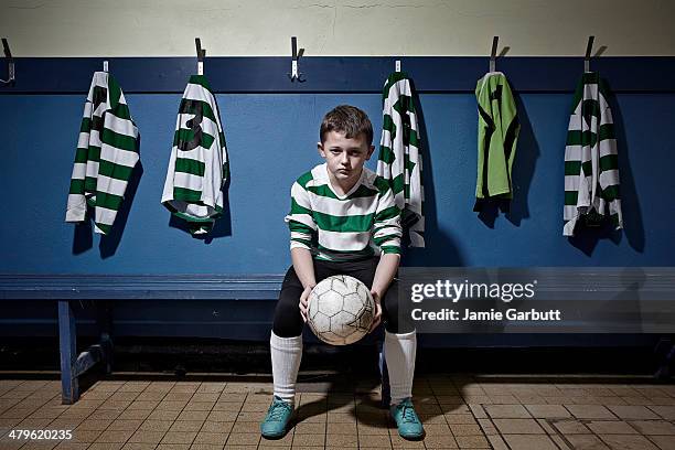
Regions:
[[[607,83],[607,81],[606,81]],[[610,93],[612,89],[609,89]],[[585,227],[581,222],[575,231],[575,236],[569,238],[569,243],[581,250],[586,256],[591,257],[600,239],[611,239],[614,244],[621,243],[621,234],[625,234],[629,245],[638,253],[644,251],[645,236],[642,222],[640,201],[635,190],[635,179],[629,162],[630,150],[625,138],[623,116],[617,104],[614,95],[610,94],[608,101],[612,110],[614,121],[614,133],[617,138],[617,152],[619,156],[619,180],[621,195],[621,212],[623,214],[623,232],[614,231],[608,223],[603,222],[600,227]]]

